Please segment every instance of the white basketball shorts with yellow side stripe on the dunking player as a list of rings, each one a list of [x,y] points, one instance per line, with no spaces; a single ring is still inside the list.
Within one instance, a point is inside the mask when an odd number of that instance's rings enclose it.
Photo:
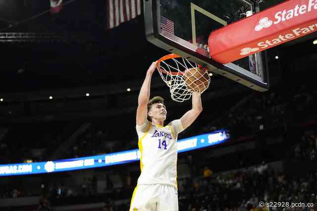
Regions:
[[[129,211],[178,211],[177,189],[170,185],[137,185]]]

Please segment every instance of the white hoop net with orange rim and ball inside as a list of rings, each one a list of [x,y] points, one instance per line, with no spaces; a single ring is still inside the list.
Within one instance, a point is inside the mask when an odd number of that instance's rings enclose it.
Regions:
[[[205,68],[179,56],[170,56],[160,61],[158,70],[169,87],[171,98],[176,102],[190,99],[193,91],[202,94],[210,84],[210,76]]]

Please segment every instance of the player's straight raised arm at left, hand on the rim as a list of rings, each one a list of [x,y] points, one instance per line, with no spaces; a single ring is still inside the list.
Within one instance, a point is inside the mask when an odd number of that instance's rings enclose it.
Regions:
[[[157,62],[153,62],[150,68],[147,71],[147,75],[142,84],[139,98],[138,98],[138,109],[136,122],[138,126],[143,125],[148,117],[148,102],[150,100],[150,88],[151,88],[151,79],[152,75],[157,68]]]

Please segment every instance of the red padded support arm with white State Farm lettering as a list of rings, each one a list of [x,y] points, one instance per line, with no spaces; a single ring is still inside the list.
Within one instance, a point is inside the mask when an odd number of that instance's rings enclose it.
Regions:
[[[226,64],[317,32],[317,0],[287,0],[211,33],[211,58]]]

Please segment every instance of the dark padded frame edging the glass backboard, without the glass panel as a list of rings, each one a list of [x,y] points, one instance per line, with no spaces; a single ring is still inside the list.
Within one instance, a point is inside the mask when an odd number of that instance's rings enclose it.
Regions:
[[[250,5],[252,4],[250,0],[241,1],[244,1],[245,3],[250,3]],[[200,8],[199,6],[193,3],[191,3],[191,8],[194,8],[194,10],[198,12],[203,12],[205,13],[205,15],[208,13],[208,11],[204,11],[204,9]],[[195,14],[193,15],[193,9],[191,9],[191,12],[191,19],[193,23],[193,21],[195,21]],[[212,14],[208,15],[212,16]],[[199,48],[199,50],[197,50],[198,46],[195,43],[195,39],[193,39],[193,43],[191,43],[161,30],[161,14],[159,0],[144,0],[144,18],[146,38],[149,42],[157,45],[162,49],[165,49],[166,51],[175,53],[177,55],[187,58],[192,62],[200,64],[203,67],[208,68],[213,73],[222,75],[230,80],[236,81],[252,89],[258,91],[268,90],[269,80],[267,71],[267,61],[265,59],[265,51],[255,54],[257,68],[262,72],[261,78],[233,63],[220,64],[212,60],[211,58],[206,56],[208,54],[206,50],[204,51],[203,48]],[[192,24],[192,27],[195,27],[195,25]],[[193,34],[195,34],[194,29]]]

